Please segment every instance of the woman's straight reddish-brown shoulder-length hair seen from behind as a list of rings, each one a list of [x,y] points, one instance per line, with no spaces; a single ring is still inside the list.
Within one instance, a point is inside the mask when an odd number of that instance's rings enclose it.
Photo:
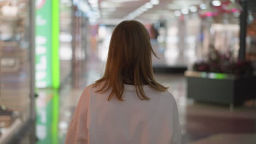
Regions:
[[[154,79],[152,53],[156,57],[149,33],[142,23],[134,20],[119,23],[110,40],[105,73],[94,83],[94,87],[102,83],[96,92],[104,93],[110,89],[108,100],[115,95],[123,101],[124,84],[134,85],[141,100],[149,100],[143,85],[166,91],[167,87]]]

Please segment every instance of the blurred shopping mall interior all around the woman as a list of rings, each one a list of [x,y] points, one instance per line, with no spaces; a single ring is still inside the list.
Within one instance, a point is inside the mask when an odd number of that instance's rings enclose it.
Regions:
[[[124,20],[149,32],[182,144],[256,143],[255,0],[0,0],[0,143],[65,143]]]

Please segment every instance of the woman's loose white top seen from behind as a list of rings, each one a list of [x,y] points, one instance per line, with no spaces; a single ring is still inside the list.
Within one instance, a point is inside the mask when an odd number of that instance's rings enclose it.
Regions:
[[[143,86],[150,100],[140,100],[135,86],[124,86],[124,101],[86,87],[69,125],[66,144],[179,144],[176,101],[169,92]]]

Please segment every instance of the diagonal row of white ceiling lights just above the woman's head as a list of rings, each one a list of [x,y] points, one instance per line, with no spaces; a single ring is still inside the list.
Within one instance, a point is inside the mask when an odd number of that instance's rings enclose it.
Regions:
[[[159,0],[150,0],[150,2],[143,4],[141,7],[139,7],[135,11],[132,11],[132,13],[130,13],[129,15],[125,16],[124,19],[134,19],[135,17],[153,8],[154,5],[157,4],[159,4]]]

